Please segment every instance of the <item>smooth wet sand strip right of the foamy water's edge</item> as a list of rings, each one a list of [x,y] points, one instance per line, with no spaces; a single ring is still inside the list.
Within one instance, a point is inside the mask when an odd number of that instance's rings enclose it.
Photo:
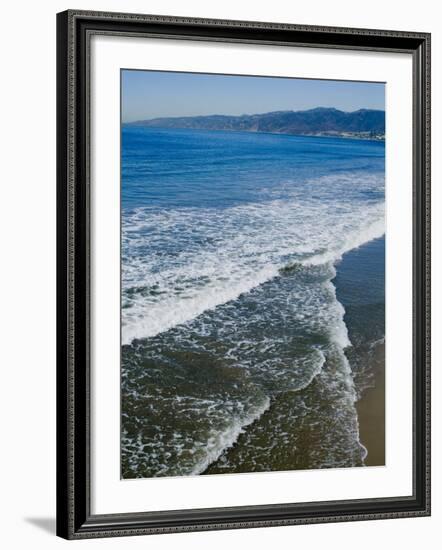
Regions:
[[[366,466],[385,465],[384,259],[385,237],[365,243],[344,255],[334,280],[352,342],[345,353],[355,381]]]

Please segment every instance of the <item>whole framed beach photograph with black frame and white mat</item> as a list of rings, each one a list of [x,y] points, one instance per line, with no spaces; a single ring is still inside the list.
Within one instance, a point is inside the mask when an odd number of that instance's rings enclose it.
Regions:
[[[429,515],[429,34],[57,36],[58,535]]]

